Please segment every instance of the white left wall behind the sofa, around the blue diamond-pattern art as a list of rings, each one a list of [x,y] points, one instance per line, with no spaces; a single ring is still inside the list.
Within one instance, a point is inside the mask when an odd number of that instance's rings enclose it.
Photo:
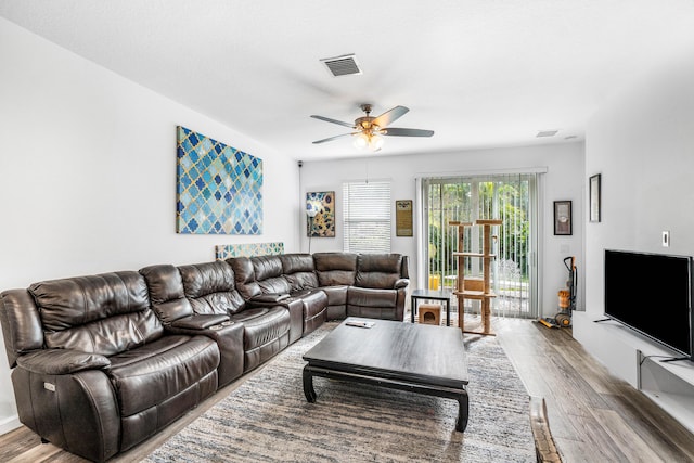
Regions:
[[[0,290],[209,261],[216,244],[296,249],[296,162],[3,18],[0,63]],[[262,235],[176,234],[177,125],[264,160]],[[2,433],[14,399],[0,349]]]

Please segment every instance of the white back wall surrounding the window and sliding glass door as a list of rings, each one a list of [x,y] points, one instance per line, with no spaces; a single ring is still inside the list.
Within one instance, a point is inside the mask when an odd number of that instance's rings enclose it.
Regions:
[[[384,151],[387,150],[387,144]],[[455,175],[493,172],[545,167],[544,194],[541,197],[544,220],[541,223],[541,243],[544,250],[540,268],[543,288],[540,310],[544,316],[557,311],[557,291],[565,286],[568,272],[563,259],[575,255],[578,259],[579,283],[582,284],[582,227],[583,211],[583,144],[564,143],[541,146],[475,150],[448,154],[417,154],[409,156],[372,156],[358,159],[307,162],[301,168],[301,197],[309,191],[335,191],[336,236],[314,237],[311,252],[342,250],[340,229],[342,183],[349,180],[390,179],[393,184],[393,217],[396,200],[416,202],[415,178],[427,175]],[[553,201],[573,201],[574,234],[554,236],[552,217]],[[306,227],[304,222],[304,227]],[[305,228],[303,230],[306,230]],[[419,230],[415,229],[415,234]],[[306,233],[301,233],[301,248],[308,248]],[[416,287],[416,236],[402,237],[391,231],[391,252],[410,256],[412,287]],[[582,292],[582,287],[580,288]],[[579,307],[582,297],[579,294]]]

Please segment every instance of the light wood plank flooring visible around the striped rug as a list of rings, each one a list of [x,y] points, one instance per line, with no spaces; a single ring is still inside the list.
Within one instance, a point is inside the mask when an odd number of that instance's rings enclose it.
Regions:
[[[474,316],[466,317],[467,326],[475,321]],[[550,330],[519,319],[494,319],[492,326],[528,394],[544,397],[552,435],[565,462],[694,462],[694,435],[609,375],[574,340],[570,329]],[[140,461],[237,386],[220,390],[112,462]],[[25,427],[0,436],[0,462],[83,461],[50,443],[41,445]]]

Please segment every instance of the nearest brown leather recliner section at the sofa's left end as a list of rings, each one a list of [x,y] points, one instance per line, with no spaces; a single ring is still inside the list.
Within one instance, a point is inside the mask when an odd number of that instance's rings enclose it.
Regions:
[[[1,297],[20,421],[72,453],[104,461],[217,390],[217,344],[168,333],[138,272],[46,281]]]

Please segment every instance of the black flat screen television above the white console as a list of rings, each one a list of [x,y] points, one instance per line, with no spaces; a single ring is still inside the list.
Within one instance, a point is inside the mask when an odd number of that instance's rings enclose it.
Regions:
[[[605,249],[605,316],[692,359],[692,257]]]

